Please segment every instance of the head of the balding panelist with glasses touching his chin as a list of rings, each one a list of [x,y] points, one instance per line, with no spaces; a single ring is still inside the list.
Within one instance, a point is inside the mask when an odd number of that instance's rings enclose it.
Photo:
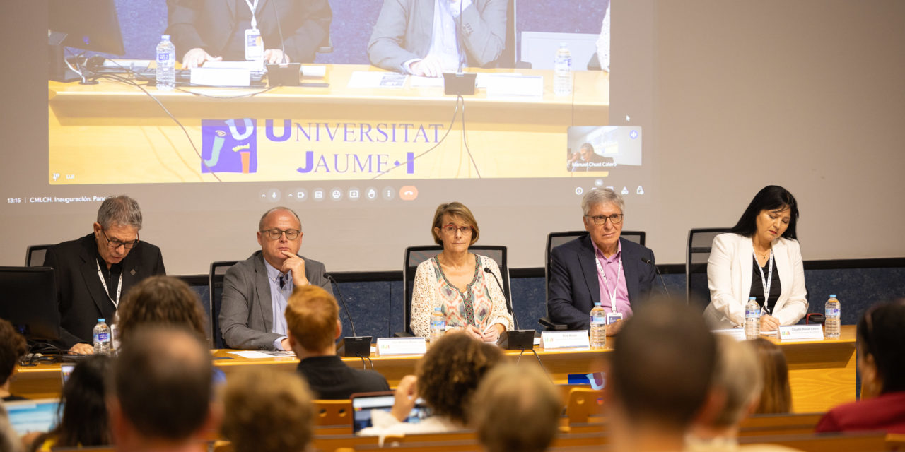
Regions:
[[[284,252],[299,253],[302,235],[299,215],[289,207],[274,207],[258,222],[258,244],[264,260],[277,269],[288,257]]]

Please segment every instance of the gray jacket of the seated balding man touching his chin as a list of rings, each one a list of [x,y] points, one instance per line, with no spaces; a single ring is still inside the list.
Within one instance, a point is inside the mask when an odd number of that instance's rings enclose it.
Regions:
[[[326,289],[330,295],[333,287],[324,278],[324,264],[305,259],[305,277],[311,284]],[[230,348],[245,350],[273,350],[273,341],[281,334],[273,330],[271,285],[260,250],[239,262],[224,275],[224,297],[220,305],[220,332]]]

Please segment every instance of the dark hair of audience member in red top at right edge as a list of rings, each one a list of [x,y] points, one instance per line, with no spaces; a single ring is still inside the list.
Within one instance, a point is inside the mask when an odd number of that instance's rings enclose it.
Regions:
[[[905,298],[868,308],[858,322],[858,343],[873,356],[881,393],[905,391]]]

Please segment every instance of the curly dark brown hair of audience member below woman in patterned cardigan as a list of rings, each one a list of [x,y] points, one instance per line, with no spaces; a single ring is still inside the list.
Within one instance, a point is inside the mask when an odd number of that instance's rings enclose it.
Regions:
[[[485,373],[503,353],[464,333],[444,334],[418,366],[418,394],[433,414],[468,423],[468,403]]]

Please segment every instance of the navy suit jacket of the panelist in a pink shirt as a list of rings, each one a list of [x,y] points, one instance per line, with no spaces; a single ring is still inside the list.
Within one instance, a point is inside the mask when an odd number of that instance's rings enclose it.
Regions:
[[[650,296],[656,269],[653,251],[631,240],[619,239],[622,244],[623,272],[628,300],[636,309]],[[651,259],[651,264],[642,261]],[[585,235],[550,250],[550,281],[547,293],[547,314],[550,320],[566,324],[570,330],[586,330],[594,304],[600,301],[594,245]]]

